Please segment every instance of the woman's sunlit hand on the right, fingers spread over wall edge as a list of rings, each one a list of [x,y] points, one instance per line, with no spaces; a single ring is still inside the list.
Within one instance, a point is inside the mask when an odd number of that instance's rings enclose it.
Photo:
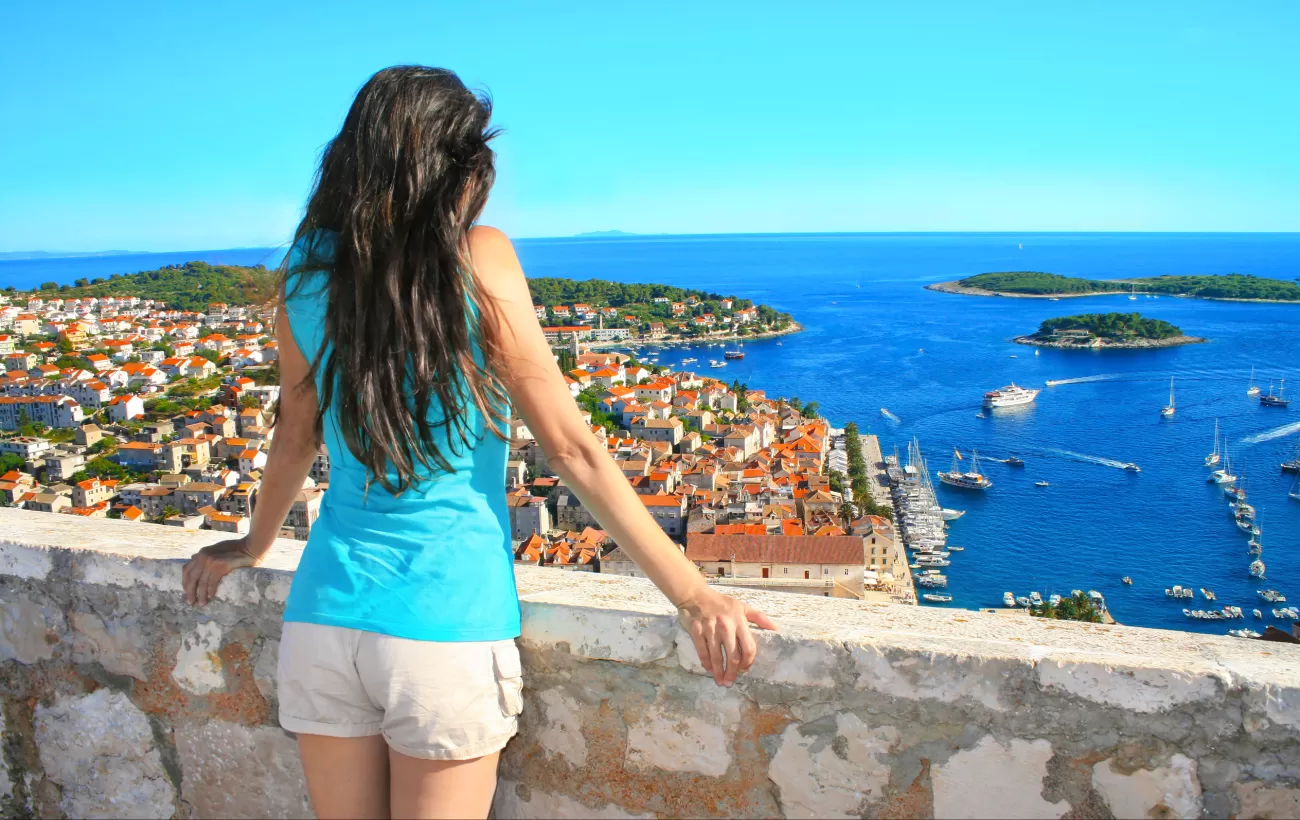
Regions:
[[[736,676],[753,665],[758,645],[750,624],[776,629],[772,619],[758,609],[703,585],[692,599],[677,606],[677,619],[696,642],[699,663],[719,686],[731,686]]]

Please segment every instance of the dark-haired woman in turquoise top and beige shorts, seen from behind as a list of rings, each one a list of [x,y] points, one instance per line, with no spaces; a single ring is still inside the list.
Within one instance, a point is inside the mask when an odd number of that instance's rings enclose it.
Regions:
[[[270,548],[316,457],[329,491],[285,606],[280,720],[321,817],[484,817],[523,707],[506,511],[517,413],[676,604],[729,686],[762,613],[711,590],[586,428],[510,240],[474,227],[490,107],[451,71],[380,71],[321,159],[283,268],[276,439],[248,535],[185,568],[191,603]]]

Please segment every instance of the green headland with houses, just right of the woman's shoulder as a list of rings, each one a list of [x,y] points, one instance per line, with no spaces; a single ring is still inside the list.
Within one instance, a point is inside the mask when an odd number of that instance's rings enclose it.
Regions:
[[[543,325],[608,329],[601,331],[608,338],[597,334],[595,343],[742,339],[800,330],[793,316],[766,304],[671,285],[541,277],[528,279],[528,288]],[[627,333],[615,337],[618,329]]]

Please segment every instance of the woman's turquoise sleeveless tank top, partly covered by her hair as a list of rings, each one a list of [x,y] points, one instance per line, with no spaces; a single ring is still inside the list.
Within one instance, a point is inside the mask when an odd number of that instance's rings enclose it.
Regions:
[[[317,259],[329,253],[330,239],[321,235]],[[290,269],[304,256],[295,244]],[[324,342],[328,275],[303,272],[289,282],[285,312],[308,361]],[[437,400],[429,413],[441,416]],[[472,448],[455,434],[452,447],[446,430],[434,430],[454,472],[430,472],[419,486],[394,496],[378,483],[367,487],[367,470],[347,448],[337,411],[326,412],[329,490],[289,591],[286,621],[416,641],[519,635],[506,507],[510,447],[488,431],[477,408],[469,421],[477,433]]]

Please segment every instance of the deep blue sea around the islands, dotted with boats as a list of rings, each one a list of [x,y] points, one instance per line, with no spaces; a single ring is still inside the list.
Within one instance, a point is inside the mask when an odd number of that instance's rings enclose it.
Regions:
[[[857,421],[887,452],[915,437],[931,470],[963,454],[1024,459],[984,465],[987,493],[939,485],[953,522],[948,607],[1001,606],[1002,593],[1101,591],[1123,624],[1223,633],[1278,624],[1256,590],[1300,602],[1300,502],[1278,464],[1300,442],[1300,402],[1260,407],[1245,391],[1252,365],[1268,390],[1300,390],[1300,305],[1097,296],[1046,301],[937,294],[922,286],[987,270],[1049,270],[1112,278],[1186,273],[1300,277],[1300,234],[854,234],[530,239],[517,242],[530,275],[664,282],[734,294],[788,311],[802,333],[745,344],[746,357],[702,373],[768,395],[816,400],[833,425]],[[186,256],[186,255],[179,255]],[[117,257],[108,257],[117,259]],[[105,257],[95,259],[96,265]],[[88,275],[87,260],[0,263],[0,283]],[[183,260],[177,260],[183,261]],[[246,263],[247,264],[247,263]],[[138,268],[136,268],[138,269]],[[90,275],[101,275],[100,273]],[[124,269],[125,272],[125,269]],[[1140,311],[1208,344],[1154,351],[1056,351],[1010,342],[1071,313]],[[719,348],[664,348],[660,364],[703,363]],[[693,365],[697,366],[698,365]],[[1160,408],[1175,377],[1178,412]],[[984,391],[1044,387],[1024,409],[980,418]],[[1297,395],[1300,398],[1300,395]],[[898,421],[881,416],[888,408]],[[1247,476],[1264,530],[1268,581],[1247,576],[1247,537],[1202,467],[1214,420]],[[1140,473],[1112,465],[1134,461]],[[1108,464],[1109,463],[1109,464]],[[1049,481],[1040,489],[1036,481]],[[1119,578],[1131,576],[1132,586]],[[1208,604],[1174,602],[1165,587],[1208,587]],[[1238,604],[1245,621],[1192,621],[1184,606]],[[1249,616],[1258,607],[1264,621]]]

